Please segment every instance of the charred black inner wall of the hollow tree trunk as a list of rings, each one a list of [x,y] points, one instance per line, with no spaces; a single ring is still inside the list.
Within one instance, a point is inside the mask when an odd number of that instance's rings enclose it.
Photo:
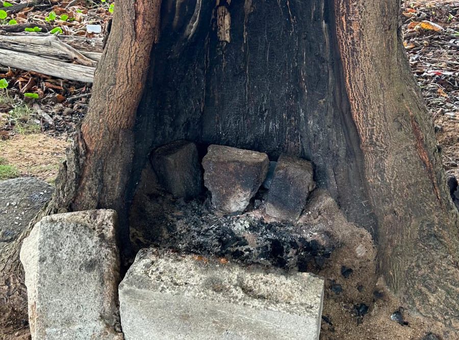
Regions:
[[[133,181],[152,148],[177,139],[266,152],[272,160],[288,153],[312,160],[318,185],[375,235],[328,1],[191,3],[162,6],[136,123]]]

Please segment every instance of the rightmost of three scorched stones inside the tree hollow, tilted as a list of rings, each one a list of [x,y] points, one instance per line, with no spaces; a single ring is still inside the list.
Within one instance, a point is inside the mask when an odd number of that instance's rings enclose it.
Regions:
[[[278,220],[296,221],[314,189],[311,162],[281,155],[266,200],[266,213]]]

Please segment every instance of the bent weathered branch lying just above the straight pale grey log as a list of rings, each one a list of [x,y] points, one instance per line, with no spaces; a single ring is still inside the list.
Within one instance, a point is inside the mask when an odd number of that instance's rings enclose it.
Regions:
[[[59,40],[59,38],[56,37],[55,35],[48,35],[48,36],[27,36],[25,35],[25,36],[16,36],[16,37],[0,36],[0,41],[28,44],[27,48],[25,48],[24,46],[24,51],[28,53],[32,53],[32,54],[37,54],[33,52],[34,50],[33,45],[36,45],[35,47],[37,48],[37,50],[40,50],[40,46],[44,46],[44,47],[47,47],[46,48],[46,50],[48,51],[47,55],[56,56],[56,52],[61,52],[70,60],[76,61],[77,63],[81,65],[93,66],[93,67],[97,65],[97,62],[85,57],[82,53],[75,50],[75,48]],[[6,48],[10,49],[10,47],[8,46]]]

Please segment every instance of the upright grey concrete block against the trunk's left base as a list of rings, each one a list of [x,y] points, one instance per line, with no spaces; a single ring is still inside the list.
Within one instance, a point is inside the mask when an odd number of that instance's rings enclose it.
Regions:
[[[34,340],[122,339],[117,332],[116,212],[45,216],[25,238],[29,324]]]

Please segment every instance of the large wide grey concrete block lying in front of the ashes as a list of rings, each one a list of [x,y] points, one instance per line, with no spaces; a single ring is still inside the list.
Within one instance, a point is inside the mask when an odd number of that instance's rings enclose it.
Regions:
[[[141,250],[119,286],[126,340],[319,338],[322,279]]]

